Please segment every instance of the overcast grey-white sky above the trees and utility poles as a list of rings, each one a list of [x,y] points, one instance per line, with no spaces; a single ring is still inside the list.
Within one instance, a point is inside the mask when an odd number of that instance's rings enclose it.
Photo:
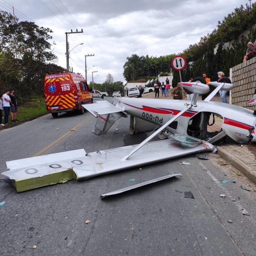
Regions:
[[[200,37],[211,33],[224,16],[244,0],[0,0],[0,9],[12,11],[20,21],[33,20],[53,31],[55,64],[66,67],[65,32],[83,28],[68,36],[70,66],[87,80],[103,83],[108,72],[114,81],[125,81],[123,65],[132,54],[163,56],[180,53]],[[29,19],[28,19],[29,18]],[[53,43],[53,41],[50,41]],[[92,67],[94,66],[94,67]],[[91,68],[92,67],[92,68]],[[98,76],[97,76],[98,75]]]

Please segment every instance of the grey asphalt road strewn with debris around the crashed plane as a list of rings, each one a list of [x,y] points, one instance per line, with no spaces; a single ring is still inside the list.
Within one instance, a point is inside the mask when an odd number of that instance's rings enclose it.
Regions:
[[[129,135],[128,119],[119,119],[99,136],[91,132],[96,118],[88,112],[64,113],[55,119],[49,114],[5,129],[0,132],[1,170],[6,170],[7,160],[139,143],[147,134]],[[102,193],[174,171],[182,177],[100,200]],[[256,255],[256,188],[236,172],[218,155],[210,154],[210,160],[190,155],[142,166],[142,170],[21,193],[0,183],[0,202],[6,201],[0,207],[0,255]],[[236,183],[220,182],[232,179]],[[195,199],[175,190],[191,191]]]

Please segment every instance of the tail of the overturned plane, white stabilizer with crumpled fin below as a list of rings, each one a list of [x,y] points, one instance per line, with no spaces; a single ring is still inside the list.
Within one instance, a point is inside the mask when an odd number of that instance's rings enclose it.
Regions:
[[[97,117],[95,128],[92,130],[96,135],[106,133],[120,117],[127,117],[122,108],[116,107],[107,100],[111,100],[113,103],[115,99],[110,98],[103,101],[97,101],[93,104],[82,105],[93,116]]]

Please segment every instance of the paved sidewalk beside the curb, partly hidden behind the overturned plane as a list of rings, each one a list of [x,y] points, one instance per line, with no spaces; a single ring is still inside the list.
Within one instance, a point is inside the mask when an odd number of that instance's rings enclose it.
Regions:
[[[155,93],[143,94],[143,98],[154,99]],[[159,96],[159,99],[161,96]],[[172,100],[172,95],[169,94],[168,98]],[[199,100],[201,97],[199,96]],[[229,102],[229,97],[227,97]],[[220,101],[219,94],[215,95],[212,101]],[[210,117],[209,123],[212,124],[212,116]],[[220,131],[223,118],[216,118],[215,123],[212,126],[208,126],[209,132]],[[218,146],[218,154],[229,164],[233,165],[238,171],[242,172],[248,179],[256,184],[256,144],[247,145],[221,145]]]

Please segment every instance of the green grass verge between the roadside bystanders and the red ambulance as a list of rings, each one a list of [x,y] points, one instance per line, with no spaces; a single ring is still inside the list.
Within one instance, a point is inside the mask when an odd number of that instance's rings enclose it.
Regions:
[[[19,104],[19,103],[18,103]],[[17,119],[23,120],[27,119],[29,117],[37,116],[42,113],[46,113],[46,107],[43,97],[33,97],[32,99],[29,99],[26,103],[24,103],[22,106],[18,106],[18,113],[17,113]],[[4,111],[3,111],[4,114]],[[4,115],[3,115],[4,116]],[[9,115],[9,121],[11,121],[11,113]],[[4,122],[4,119],[3,119]]]

